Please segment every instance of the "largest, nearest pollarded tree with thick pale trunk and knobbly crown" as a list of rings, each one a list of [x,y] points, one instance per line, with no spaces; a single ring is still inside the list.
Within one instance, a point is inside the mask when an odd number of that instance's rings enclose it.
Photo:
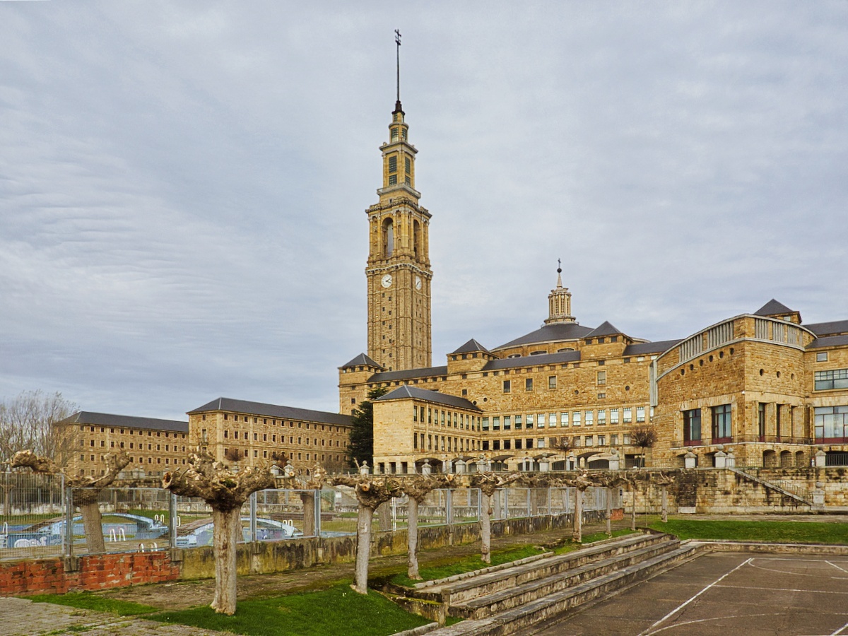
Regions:
[[[183,497],[199,497],[212,508],[215,554],[215,598],[219,614],[236,611],[236,546],[242,533],[242,505],[257,490],[273,488],[271,466],[229,467],[209,453],[192,453],[183,470],[166,472],[162,488]]]

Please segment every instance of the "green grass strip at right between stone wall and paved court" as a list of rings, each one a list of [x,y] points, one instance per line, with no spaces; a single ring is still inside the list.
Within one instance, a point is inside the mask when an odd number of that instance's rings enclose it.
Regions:
[[[767,541],[792,544],[848,544],[848,523],[749,522],[670,518],[651,522],[650,528],[678,538]]]

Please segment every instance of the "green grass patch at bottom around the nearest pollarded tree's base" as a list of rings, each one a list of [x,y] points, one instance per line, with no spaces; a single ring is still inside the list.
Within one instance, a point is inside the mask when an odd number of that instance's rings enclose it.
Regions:
[[[426,625],[426,618],[399,608],[382,594],[357,594],[347,584],[304,594],[238,602],[233,616],[210,607],[168,611],[151,620],[257,636],[387,636]]]

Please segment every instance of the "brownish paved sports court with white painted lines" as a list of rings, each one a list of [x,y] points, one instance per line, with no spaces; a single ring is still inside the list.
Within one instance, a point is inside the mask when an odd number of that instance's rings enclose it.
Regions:
[[[707,553],[540,632],[660,633],[848,634],[848,559]]]

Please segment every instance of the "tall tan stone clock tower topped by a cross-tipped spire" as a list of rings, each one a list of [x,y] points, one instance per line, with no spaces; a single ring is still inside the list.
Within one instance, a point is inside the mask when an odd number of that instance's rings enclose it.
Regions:
[[[430,366],[430,213],[418,204],[416,153],[398,97],[382,152],[382,187],[368,215],[368,355],[388,371]]]

